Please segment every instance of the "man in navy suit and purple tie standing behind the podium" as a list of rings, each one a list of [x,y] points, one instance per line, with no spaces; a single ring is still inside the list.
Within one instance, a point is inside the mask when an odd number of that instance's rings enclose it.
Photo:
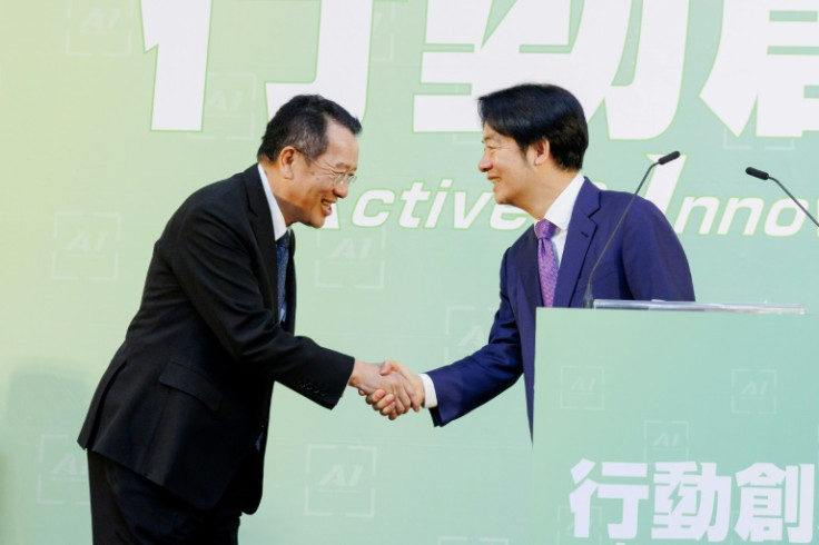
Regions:
[[[492,182],[495,200],[553,226],[556,285],[544,294],[535,227],[506,250],[501,262],[501,305],[489,343],[460,361],[416,377],[436,426],[483,405],[523,375],[530,432],[533,418],[535,308],[580,307],[589,274],[603,299],[693,300],[685,254],[665,217],[638,197],[610,247],[603,247],[632,198],[603,191],[580,174],[589,146],[585,115],[578,99],[556,86],[522,85],[478,101],[484,153],[478,169]],[[385,369],[386,371],[386,369]],[[422,386],[423,385],[423,386]],[[397,417],[383,393],[367,396],[382,414]]]

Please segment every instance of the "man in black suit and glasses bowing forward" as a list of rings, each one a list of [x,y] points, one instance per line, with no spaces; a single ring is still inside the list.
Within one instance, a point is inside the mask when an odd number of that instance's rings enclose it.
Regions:
[[[100,380],[88,449],[93,542],[237,543],[262,498],[278,382],[332,408],[345,386],[418,409],[399,374],[294,335],[294,222],[347,196],[361,123],[299,96],[267,126],[258,164],[194,192],[159,240],[142,300]]]

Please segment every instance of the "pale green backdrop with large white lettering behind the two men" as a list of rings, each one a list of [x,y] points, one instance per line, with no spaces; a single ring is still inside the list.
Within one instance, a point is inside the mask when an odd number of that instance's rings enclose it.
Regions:
[[[529,226],[477,171],[474,98],[573,90],[584,174],[645,195],[698,299],[819,305],[816,0],[0,0],[0,543],[88,543],[76,446],[152,242],[194,189],[254,161],[270,113],[322,92],[362,117],[359,181],[297,228],[300,334],[421,371],[481,346],[501,255]],[[581,337],[581,334],[578,334]],[[806,339],[808,343],[809,339]],[[806,377],[809,379],[809,377]],[[243,543],[521,544],[519,384],[433,429],[347,393],[277,388]]]

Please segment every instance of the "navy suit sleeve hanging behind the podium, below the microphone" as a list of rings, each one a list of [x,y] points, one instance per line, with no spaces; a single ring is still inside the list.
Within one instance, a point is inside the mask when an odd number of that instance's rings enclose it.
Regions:
[[[623,267],[635,300],[694,300],[685,251],[665,216],[650,201],[638,199],[623,235]]]

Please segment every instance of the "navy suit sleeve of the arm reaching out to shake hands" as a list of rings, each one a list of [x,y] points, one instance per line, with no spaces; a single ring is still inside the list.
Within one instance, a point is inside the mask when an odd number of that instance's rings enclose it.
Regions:
[[[443,426],[480,407],[512,386],[523,373],[521,339],[507,290],[509,250],[501,265],[501,305],[489,343],[471,356],[428,371],[438,406],[430,413]]]

